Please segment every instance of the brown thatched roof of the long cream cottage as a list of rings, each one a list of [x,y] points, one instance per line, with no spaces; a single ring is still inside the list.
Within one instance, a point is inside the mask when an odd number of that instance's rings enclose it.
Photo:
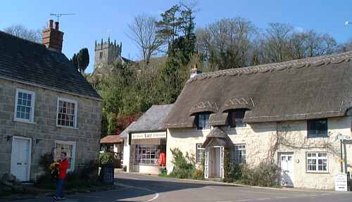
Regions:
[[[165,127],[194,127],[194,115],[211,112],[225,125],[229,109],[248,108],[244,122],[344,116],[351,107],[352,52],[235,68],[189,79]],[[215,124],[216,125],[216,124]]]

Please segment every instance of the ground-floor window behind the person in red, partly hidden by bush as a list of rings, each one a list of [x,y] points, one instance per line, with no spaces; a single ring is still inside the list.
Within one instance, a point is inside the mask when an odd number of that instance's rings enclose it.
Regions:
[[[75,170],[75,153],[76,143],[75,141],[55,141],[55,160],[60,158],[61,152],[67,153],[68,159],[68,172]]]

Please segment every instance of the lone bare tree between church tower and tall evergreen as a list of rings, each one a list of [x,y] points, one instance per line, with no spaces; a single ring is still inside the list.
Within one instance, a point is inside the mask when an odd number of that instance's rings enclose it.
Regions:
[[[151,15],[137,15],[128,27],[130,33],[127,34],[138,46],[142,54],[144,65],[148,65],[152,56],[161,50],[164,41],[156,34],[156,18]]]

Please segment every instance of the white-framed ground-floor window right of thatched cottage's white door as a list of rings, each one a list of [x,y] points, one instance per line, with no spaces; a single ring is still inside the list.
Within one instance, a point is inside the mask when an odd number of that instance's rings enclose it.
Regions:
[[[327,153],[308,152],[307,172],[327,172]]]

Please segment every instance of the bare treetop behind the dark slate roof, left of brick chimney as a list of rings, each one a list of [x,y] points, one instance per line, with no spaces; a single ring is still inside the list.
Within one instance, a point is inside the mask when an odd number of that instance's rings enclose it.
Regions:
[[[4,32],[31,42],[40,43],[42,40],[42,32],[40,30],[30,30],[23,25],[11,25],[10,27],[6,27]]]

